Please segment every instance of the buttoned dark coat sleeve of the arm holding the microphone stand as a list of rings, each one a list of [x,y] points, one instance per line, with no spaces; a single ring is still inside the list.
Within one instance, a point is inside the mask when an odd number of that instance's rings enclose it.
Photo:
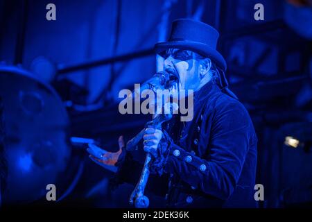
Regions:
[[[206,194],[227,199],[236,187],[248,152],[251,120],[238,101],[218,107],[211,123],[207,155],[200,158],[171,143],[165,170]]]

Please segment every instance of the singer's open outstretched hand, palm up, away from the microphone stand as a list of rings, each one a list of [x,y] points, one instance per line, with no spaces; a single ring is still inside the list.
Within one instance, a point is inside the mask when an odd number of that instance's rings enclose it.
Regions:
[[[91,160],[96,162],[103,167],[104,165],[114,166],[118,161],[119,155],[122,153],[122,148],[125,146],[125,142],[123,141],[123,136],[120,136],[118,139],[119,151],[116,153],[107,152],[102,148],[94,144],[89,144],[89,148],[87,148],[87,152],[90,154],[89,157]]]

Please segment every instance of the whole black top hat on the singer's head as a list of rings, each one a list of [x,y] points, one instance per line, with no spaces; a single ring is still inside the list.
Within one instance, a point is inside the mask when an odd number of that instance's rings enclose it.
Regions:
[[[173,21],[168,41],[155,44],[155,51],[162,53],[169,48],[187,49],[207,56],[225,71],[227,64],[216,50],[218,37],[218,31],[208,24],[192,19],[177,19]]]

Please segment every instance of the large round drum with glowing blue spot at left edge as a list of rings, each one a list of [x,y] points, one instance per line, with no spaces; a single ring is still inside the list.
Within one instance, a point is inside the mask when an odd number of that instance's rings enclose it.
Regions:
[[[55,90],[18,67],[0,66],[6,189],[3,204],[46,198],[47,185],[64,189],[69,167],[69,117]],[[68,176],[68,175],[67,175]]]

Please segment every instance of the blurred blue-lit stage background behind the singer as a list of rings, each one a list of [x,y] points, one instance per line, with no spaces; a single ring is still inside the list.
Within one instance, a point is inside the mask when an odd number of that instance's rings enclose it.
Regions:
[[[56,21],[46,20],[48,3],[56,6]],[[264,21],[254,19],[256,3],[264,6]],[[4,205],[46,204],[45,185],[54,183],[59,205],[128,206],[133,187],[107,189],[113,173],[70,138],[96,139],[116,151],[119,135],[130,139],[144,127],[150,117],[119,114],[118,93],[159,70],[154,44],[166,40],[174,19],[189,17],[220,32],[230,89],[257,130],[260,207],[311,206],[311,6],[308,0],[0,0]],[[53,123],[60,127],[46,130]],[[288,136],[300,145],[286,146]],[[152,197],[151,206],[158,201]]]

